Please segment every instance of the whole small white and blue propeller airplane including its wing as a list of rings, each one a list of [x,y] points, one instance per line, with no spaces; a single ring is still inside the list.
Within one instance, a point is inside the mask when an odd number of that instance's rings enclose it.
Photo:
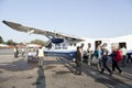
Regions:
[[[113,43],[119,43],[120,46],[124,46],[128,50],[128,54],[132,54],[132,35],[118,36],[111,38],[85,38],[74,35],[55,33],[51,31],[44,31],[35,28],[25,26],[19,23],[2,21],[4,24],[13,30],[25,32],[30,34],[45,35],[50,41],[46,43],[47,48],[44,48],[44,53],[50,56],[63,56],[67,58],[75,58],[76,47],[84,44],[84,52],[87,52],[88,45],[92,50],[100,44],[107,44],[107,48],[111,51]]]

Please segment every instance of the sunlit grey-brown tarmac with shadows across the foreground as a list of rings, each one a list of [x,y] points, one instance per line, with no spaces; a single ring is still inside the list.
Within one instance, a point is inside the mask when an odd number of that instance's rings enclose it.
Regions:
[[[100,75],[95,66],[82,64],[82,75],[76,65],[63,57],[45,57],[44,67],[28,57],[13,57],[13,50],[0,50],[0,88],[132,88],[132,64],[112,77]]]

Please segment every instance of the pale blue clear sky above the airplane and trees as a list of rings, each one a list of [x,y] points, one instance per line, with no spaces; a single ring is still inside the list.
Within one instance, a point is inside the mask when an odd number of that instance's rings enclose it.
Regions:
[[[0,0],[0,36],[4,41],[47,40],[28,35],[3,20],[80,37],[132,34],[132,0]]]

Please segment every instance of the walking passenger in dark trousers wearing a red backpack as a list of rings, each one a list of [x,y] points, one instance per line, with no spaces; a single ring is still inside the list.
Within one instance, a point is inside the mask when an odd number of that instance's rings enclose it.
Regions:
[[[119,74],[122,73],[121,68],[119,67],[119,63],[122,61],[123,55],[122,52],[119,50],[119,45],[112,45],[112,73],[114,73],[116,68],[119,70]]]

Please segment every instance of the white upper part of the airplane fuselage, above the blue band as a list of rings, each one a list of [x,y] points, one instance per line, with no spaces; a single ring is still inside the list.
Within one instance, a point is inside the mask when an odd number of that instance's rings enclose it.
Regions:
[[[80,46],[81,43],[85,44],[84,51],[87,51],[88,43],[91,44],[91,50],[95,51],[96,50],[96,45],[95,45],[96,41],[101,41],[101,44],[106,43],[109,52],[111,52],[112,43],[125,43],[128,53],[132,52],[132,35],[119,36],[119,37],[113,37],[113,38],[86,38],[82,42],[65,40],[64,43],[52,44],[51,50],[45,48],[44,51],[45,52],[57,52],[57,53],[76,52],[76,47]]]

